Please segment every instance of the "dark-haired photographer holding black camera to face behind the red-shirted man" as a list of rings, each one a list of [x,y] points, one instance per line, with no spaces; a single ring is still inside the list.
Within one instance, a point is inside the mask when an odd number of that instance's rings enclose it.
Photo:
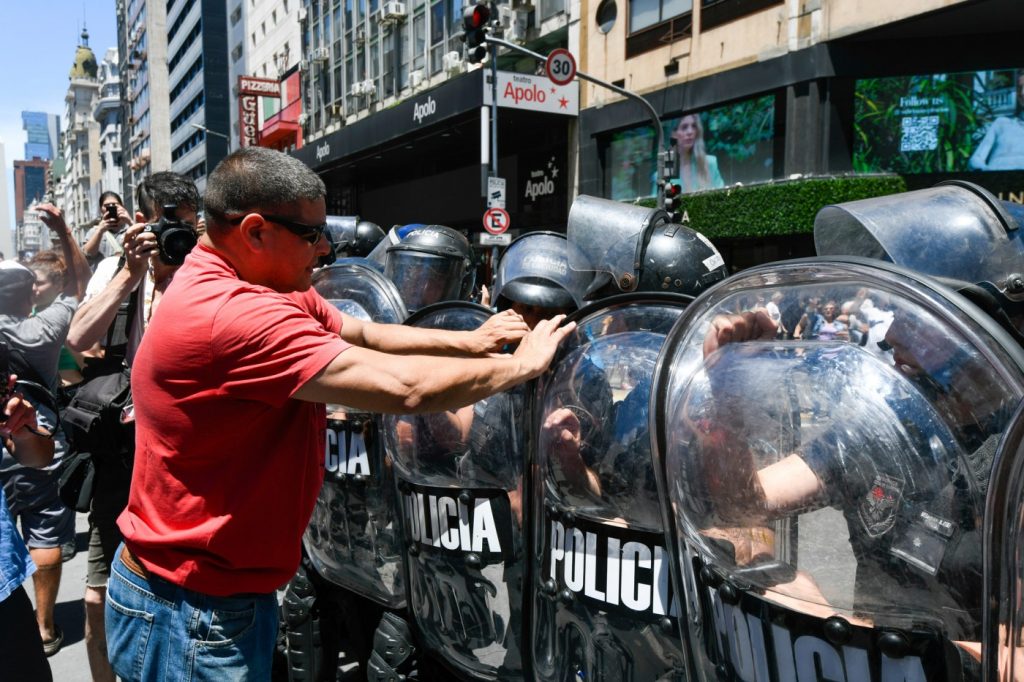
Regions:
[[[161,258],[158,236],[150,225],[168,224],[166,221],[161,223],[166,206],[176,207],[175,219],[180,223],[195,224],[200,197],[191,180],[177,173],[162,172],[139,183],[136,204],[140,210],[135,214],[135,223],[125,230],[124,255],[105,258],[96,266],[85,301],[68,335],[68,346],[78,351],[110,341],[103,358],[108,371],[122,361],[131,367],[150,319],[180,265],[180,260],[171,264]],[[118,215],[122,212],[123,207],[118,209]],[[187,240],[183,245],[188,246]],[[120,338],[109,334],[112,327],[115,332],[122,330],[124,334]],[[84,373],[88,379],[97,370],[87,367]],[[126,430],[126,437],[130,436],[131,432]],[[130,453],[134,443],[122,445],[122,450]],[[103,453],[95,455],[104,459]],[[106,659],[103,603],[114,551],[121,542],[121,531],[115,521],[128,500],[132,464],[131,458],[126,458],[122,452],[105,455],[108,466],[97,464],[96,467],[89,513],[89,568],[85,588],[86,652],[92,678],[97,682],[114,680]]]

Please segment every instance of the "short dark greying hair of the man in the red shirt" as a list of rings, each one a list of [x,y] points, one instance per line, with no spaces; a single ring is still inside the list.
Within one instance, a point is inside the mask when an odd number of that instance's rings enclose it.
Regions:
[[[226,229],[224,216],[326,195],[324,180],[298,159],[262,146],[246,146],[217,164],[207,179],[207,228]]]

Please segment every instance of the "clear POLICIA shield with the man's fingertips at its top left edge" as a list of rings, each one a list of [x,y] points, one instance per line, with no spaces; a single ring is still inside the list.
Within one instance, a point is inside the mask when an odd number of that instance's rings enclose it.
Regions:
[[[633,294],[580,310],[542,378],[529,583],[536,679],[685,679],[647,412],[657,353],[689,300]]]

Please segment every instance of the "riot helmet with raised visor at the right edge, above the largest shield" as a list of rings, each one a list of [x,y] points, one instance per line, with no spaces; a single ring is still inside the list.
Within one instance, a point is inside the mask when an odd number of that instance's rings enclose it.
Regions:
[[[1009,315],[1021,332],[1022,227],[1024,207],[948,180],[824,207],[814,218],[814,248],[819,256],[876,258],[938,278],[997,318]]]

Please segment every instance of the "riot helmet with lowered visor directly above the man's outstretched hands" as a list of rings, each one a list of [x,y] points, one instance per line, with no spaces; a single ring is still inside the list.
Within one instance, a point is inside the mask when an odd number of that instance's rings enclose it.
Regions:
[[[513,303],[572,311],[583,305],[592,275],[568,264],[564,235],[527,232],[516,239],[498,261],[495,305],[499,310]]]

